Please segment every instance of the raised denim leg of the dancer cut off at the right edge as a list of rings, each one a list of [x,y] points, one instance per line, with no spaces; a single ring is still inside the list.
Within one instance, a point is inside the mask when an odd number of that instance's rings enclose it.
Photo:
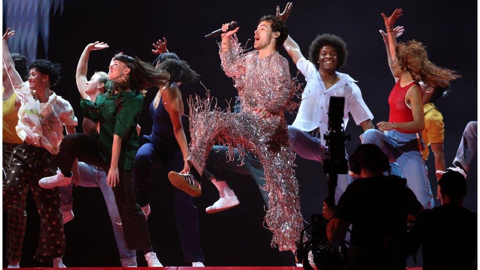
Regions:
[[[472,163],[477,154],[477,124],[477,121],[471,121],[467,124],[463,131],[457,154],[455,159],[453,159],[453,165],[455,163],[462,165],[467,173],[470,170],[470,163]]]

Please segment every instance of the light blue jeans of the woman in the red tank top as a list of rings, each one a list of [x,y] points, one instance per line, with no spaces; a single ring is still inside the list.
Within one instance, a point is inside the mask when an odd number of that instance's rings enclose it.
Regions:
[[[435,206],[432,189],[421,156],[423,140],[417,134],[407,134],[396,130],[383,133],[377,129],[368,129],[360,135],[362,144],[374,144],[389,156],[390,162],[397,162],[399,169],[407,179],[407,186],[417,196],[425,209]]]

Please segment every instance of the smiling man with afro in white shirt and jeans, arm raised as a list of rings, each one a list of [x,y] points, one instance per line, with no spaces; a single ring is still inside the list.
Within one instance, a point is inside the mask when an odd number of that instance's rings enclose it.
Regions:
[[[286,21],[292,5],[288,3],[283,13],[280,13],[277,6],[276,16]],[[299,45],[290,35],[283,47],[307,82],[299,113],[293,124],[288,126],[290,141],[301,157],[323,163],[327,147],[322,134],[328,130],[330,96],[345,97],[345,127],[350,112],[363,131],[374,128],[373,115],[361,97],[360,88],[355,84],[357,81],[348,74],[337,71],[345,65],[348,56],[347,44],[341,37],[333,34],[318,35],[310,45],[308,60],[303,57]],[[338,202],[350,182],[349,175],[338,175],[335,202]]]

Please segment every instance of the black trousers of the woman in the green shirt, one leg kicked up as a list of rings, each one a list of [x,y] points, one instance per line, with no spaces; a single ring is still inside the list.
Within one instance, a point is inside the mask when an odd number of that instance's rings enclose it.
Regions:
[[[61,141],[59,153],[50,161],[50,165],[59,167],[63,174],[70,174],[75,158],[103,168],[108,175],[109,164],[103,161],[96,138],[81,133],[65,136]],[[120,183],[112,189],[127,247],[149,249],[151,247],[149,227],[142,209],[135,202],[133,174],[131,171],[119,170],[119,178]]]

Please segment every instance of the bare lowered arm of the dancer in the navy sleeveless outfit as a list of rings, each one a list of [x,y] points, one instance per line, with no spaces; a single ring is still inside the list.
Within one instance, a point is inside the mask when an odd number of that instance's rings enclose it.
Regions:
[[[181,123],[182,114],[180,113],[180,101],[177,95],[177,89],[166,86],[161,90],[160,94],[162,95],[163,106],[170,115],[170,121],[172,121],[175,139],[177,139],[177,143],[180,146],[181,154],[183,156],[183,170],[180,173],[187,174],[190,172],[190,166],[187,162],[188,146],[187,138],[185,136],[185,132],[183,131],[183,125]]]

